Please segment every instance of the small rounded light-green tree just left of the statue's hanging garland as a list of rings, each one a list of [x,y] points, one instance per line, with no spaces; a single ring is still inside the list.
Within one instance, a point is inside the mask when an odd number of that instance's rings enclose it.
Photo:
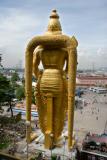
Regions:
[[[24,86],[19,86],[17,89],[16,89],[16,98],[18,100],[22,100],[25,98],[25,89],[24,89]]]

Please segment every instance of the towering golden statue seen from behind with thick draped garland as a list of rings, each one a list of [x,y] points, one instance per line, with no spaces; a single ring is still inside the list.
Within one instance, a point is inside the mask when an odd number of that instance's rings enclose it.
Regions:
[[[62,34],[59,16],[53,10],[48,29],[34,37],[26,49],[26,119],[31,121],[32,71],[37,78],[36,100],[45,148],[57,145],[68,111],[68,147],[72,147],[78,43]],[[38,66],[43,65],[41,71]],[[27,132],[30,142],[31,133]]]

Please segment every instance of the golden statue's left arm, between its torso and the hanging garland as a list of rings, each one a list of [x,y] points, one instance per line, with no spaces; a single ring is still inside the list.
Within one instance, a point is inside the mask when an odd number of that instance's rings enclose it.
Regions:
[[[33,53],[33,74],[34,76],[38,79],[38,76],[39,76],[39,66],[40,64],[40,55],[39,55],[39,52],[34,52]]]

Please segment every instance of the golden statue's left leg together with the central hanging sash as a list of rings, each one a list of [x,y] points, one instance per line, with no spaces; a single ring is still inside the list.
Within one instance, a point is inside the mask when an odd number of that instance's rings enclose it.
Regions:
[[[53,131],[53,97],[50,93],[40,92],[38,86],[36,88],[35,96],[38,106],[39,124],[45,136],[45,148],[49,149],[52,147],[51,135]]]

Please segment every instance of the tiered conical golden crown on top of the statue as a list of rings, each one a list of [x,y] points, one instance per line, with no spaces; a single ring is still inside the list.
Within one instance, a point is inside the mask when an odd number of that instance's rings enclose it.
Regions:
[[[50,15],[49,24],[45,35],[59,35],[62,34],[62,28],[59,21],[59,16],[56,10],[52,10]]]

